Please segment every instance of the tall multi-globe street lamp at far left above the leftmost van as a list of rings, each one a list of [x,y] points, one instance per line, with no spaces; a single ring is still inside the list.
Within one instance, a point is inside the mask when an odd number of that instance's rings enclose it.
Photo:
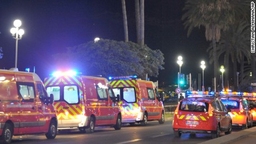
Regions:
[[[18,39],[22,38],[22,35],[24,34],[24,30],[23,29],[19,29],[19,27],[21,26],[21,21],[19,19],[16,19],[13,22],[14,27],[11,28],[11,33],[13,38],[16,39],[16,54],[15,54],[15,68],[17,68],[17,57],[18,57]]]

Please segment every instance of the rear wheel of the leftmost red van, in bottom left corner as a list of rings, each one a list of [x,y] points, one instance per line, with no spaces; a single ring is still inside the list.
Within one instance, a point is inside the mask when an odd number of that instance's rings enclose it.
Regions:
[[[13,136],[13,128],[9,123],[6,123],[1,136],[1,143],[11,143]]]

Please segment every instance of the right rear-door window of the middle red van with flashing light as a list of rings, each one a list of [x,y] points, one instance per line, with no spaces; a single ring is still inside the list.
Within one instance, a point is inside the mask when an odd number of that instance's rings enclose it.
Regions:
[[[79,89],[77,86],[64,86],[63,99],[70,104],[78,103]]]

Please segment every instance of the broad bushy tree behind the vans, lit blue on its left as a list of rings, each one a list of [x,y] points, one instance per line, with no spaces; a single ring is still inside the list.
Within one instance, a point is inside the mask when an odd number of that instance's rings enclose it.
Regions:
[[[164,69],[163,55],[159,50],[153,51],[147,46],[140,48],[133,42],[100,39],[69,47],[67,52],[55,54],[53,58],[62,69],[79,67],[84,75],[142,77],[148,73],[157,77],[159,69]]]

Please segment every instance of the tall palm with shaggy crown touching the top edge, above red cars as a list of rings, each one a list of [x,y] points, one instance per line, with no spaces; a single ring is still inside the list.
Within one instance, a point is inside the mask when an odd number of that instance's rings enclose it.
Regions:
[[[188,0],[184,7],[182,20],[188,29],[188,36],[195,27],[205,27],[205,37],[213,44],[214,77],[218,78],[218,58],[216,42],[220,39],[220,31],[227,30],[233,23],[234,13],[229,1]],[[218,79],[216,80],[218,85]]]

